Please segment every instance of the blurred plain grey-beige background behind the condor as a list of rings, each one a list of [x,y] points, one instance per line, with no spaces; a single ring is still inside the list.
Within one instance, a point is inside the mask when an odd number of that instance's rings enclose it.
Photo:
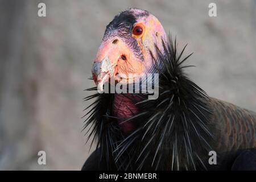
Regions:
[[[180,48],[188,43],[196,68],[187,72],[209,96],[256,111],[255,0],[1,0],[0,169],[81,169],[93,151],[81,132],[83,89],[94,86],[87,78],[106,25],[129,7],[158,17]]]

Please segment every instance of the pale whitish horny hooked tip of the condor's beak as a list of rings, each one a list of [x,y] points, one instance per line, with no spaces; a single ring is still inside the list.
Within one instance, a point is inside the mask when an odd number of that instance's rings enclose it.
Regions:
[[[103,92],[104,83],[108,82],[109,78],[113,76],[113,68],[109,61],[109,56],[106,56],[103,60],[93,63],[92,75],[98,90]]]

